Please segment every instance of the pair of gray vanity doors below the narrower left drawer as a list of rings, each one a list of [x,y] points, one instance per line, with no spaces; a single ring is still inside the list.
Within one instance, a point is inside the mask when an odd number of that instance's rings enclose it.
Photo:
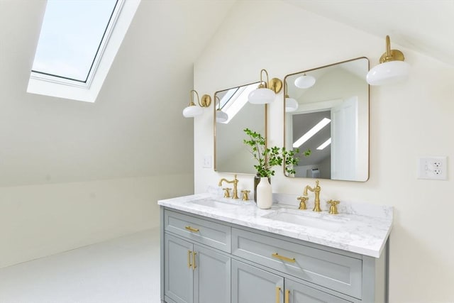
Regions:
[[[231,258],[166,234],[165,295],[176,303],[230,303]],[[169,302],[172,302],[169,300]]]

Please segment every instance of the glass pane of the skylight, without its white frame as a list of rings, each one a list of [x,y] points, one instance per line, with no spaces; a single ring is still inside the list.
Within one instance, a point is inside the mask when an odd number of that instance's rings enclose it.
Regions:
[[[87,82],[116,0],[48,0],[33,72]]]

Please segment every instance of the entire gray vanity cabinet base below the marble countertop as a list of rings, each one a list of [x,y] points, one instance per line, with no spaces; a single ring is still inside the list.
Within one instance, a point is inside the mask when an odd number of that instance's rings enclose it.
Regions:
[[[161,207],[167,303],[387,302],[380,258]]]

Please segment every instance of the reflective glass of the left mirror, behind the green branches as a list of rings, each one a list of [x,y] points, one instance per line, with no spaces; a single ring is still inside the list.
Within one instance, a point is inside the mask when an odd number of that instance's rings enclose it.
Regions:
[[[255,160],[243,143],[243,130],[250,128],[266,137],[266,106],[248,102],[257,86],[255,82],[214,94],[214,170],[218,172],[256,172]]]

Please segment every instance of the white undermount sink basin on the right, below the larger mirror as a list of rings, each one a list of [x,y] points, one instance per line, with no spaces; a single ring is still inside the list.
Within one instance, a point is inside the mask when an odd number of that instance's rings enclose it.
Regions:
[[[301,226],[319,228],[327,231],[338,231],[349,220],[346,218],[332,217],[327,214],[311,213],[309,211],[300,211],[295,209],[279,209],[271,214],[262,216],[263,218],[282,221]]]

